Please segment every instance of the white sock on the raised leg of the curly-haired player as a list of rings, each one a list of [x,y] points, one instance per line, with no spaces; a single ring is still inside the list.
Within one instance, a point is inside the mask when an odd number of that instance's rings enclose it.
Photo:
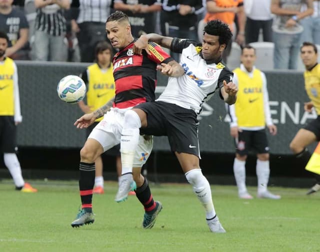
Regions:
[[[137,113],[128,110],[124,115],[123,129],[121,132],[121,163],[122,175],[132,173],[134,152],[139,141],[139,128],[141,121]]]

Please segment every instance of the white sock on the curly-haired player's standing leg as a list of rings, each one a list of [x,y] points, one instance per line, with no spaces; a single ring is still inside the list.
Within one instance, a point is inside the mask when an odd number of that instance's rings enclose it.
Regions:
[[[193,192],[204,207],[205,218],[212,219],[216,214],[212,203],[211,188],[201,169],[193,169],[184,174],[186,180],[192,185]]]

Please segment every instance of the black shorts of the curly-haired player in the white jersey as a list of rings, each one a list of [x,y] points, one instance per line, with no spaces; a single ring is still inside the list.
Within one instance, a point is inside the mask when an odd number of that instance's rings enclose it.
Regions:
[[[162,101],[141,103],[134,108],[147,114],[147,127],[141,128],[140,134],[167,136],[171,151],[200,158],[198,120],[193,110]]]

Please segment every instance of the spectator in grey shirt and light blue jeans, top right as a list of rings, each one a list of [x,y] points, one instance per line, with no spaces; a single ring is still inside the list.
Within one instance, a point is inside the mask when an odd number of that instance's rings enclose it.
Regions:
[[[272,0],[271,12],[276,15],[273,29],[273,62],[276,69],[296,69],[303,27],[299,20],[313,12],[312,0],[305,0],[306,10],[300,11],[304,0]]]

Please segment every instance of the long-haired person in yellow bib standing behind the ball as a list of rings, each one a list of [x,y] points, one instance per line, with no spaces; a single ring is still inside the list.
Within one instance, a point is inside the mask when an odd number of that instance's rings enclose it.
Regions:
[[[115,94],[114,78],[112,73],[112,47],[106,41],[98,42],[95,47],[95,63],[88,66],[81,74],[81,78],[86,83],[86,103],[80,101],[78,103],[83,113],[91,113],[97,108],[107,103]],[[87,137],[92,129],[101,121],[100,117],[94,121],[87,129]],[[120,145],[112,147],[105,152],[107,155],[116,156],[116,172],[118,177],[121,176],[121,158],[120,158]],[[103,194],[103,163],[101,156],[95,160],[95,181],[93,193]]]

